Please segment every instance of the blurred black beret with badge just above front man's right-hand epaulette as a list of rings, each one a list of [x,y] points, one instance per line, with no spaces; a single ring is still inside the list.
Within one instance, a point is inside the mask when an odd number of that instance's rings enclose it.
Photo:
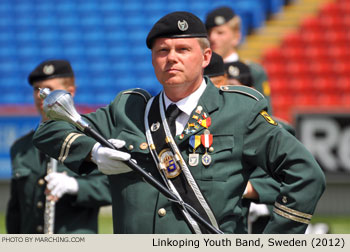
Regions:
[[[225,63],[228,79],[236,79],[245,86],[253,86],[253,78],[249,67],[241,61]]]

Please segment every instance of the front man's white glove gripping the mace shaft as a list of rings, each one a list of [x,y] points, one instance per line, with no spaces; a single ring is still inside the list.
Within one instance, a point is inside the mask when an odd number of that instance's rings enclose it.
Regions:
[[[124,141],[118,139],[108,141],[118,149],[125,145]],[[96,143],[91,150],[91,160],[97,165],[98,170],[106,175],[131,172],[132,169],[123,162],[129,159],[129,153],[103,147],[100,143]]]

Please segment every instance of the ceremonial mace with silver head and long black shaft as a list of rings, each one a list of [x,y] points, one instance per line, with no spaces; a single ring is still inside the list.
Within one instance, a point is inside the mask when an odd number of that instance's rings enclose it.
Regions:
[[[52,120],[69,122],[83,131],[86,135],[94,138],[102,146],[114,150],[117,149],[113,144],[108,142],[103,136],[91,128],[91,126],[86,121],[83,120],[80,114],[76,111],[73,99],[69,92],[65,90],[54,90],[50,92],[48,88],[44,88],[40,89],[40,97],[44,99],[44,112],[48,118]],[[150,173],[147,173],[134,161],[130,159],[125,162],[132,170],[139,173],[146,182],[155,187],[164,196],[169,198],[171,201],[178,203],[180,207],[185,208],[185,210],[192,216],[192,218],[200,223],[203,227],[205,227],[210,233],[223,234],[221,230],[217,229],[205,219],[203,219],[193,207],[189,206],[188,204],[183,204],[183,202],[181,202],[174,193],[169,191],[168,188],[163,186],[163,184],[156,180]]]

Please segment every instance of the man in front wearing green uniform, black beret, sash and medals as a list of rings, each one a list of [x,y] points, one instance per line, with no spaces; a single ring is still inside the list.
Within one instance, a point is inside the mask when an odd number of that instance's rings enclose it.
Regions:
[[[146,44],[163,91],[150,99],[144,90],[127,90],[84,116],[118,150],[63,121],[42,124],[34,144],[77,173],[109,174],[115,233],[206,232],[131,170],[130,158],[225,233],[237,229],[242,194],[260,166],[283,184],[264,232],[303,233],[325,187],[321,168],[269,117],[260,93],[218,89],[203,78],[212,52],[205,25],[191,13],[170,13]]]

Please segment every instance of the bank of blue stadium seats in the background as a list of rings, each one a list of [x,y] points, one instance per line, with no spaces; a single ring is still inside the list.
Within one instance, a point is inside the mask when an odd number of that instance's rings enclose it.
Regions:
[[[43,60],[52,58],[71,61],[78,90],[82,93],[77,96],[78,102],[105,104],[118,91],[136,86],[156,94],[161,85],[154,76],[145,39],[160,17],[185,10],[204,20],[210,10],[228,5],[242,17],[244,38],[251,29],[264,25],[266,13],[279,10],[281,2],[0,1],[0,83],[8,87],[7,98],[1,103],[32,104],[31,92],[19,94],[11,87],[26,85],[28,73]],[[98,92],[97,95],[90,94],[91,90]]]

